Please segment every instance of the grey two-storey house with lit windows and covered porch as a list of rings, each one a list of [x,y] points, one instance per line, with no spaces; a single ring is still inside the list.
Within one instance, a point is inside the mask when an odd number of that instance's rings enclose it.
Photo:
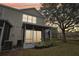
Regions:
[[[52,27],[44,20],[35,8],[18,10],[0,5],[0,50],[34,48],[35,43],[51,39]]]

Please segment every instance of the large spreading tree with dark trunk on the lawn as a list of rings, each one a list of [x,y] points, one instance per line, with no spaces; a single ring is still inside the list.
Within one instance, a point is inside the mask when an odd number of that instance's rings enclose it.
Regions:
[[[43,3],[41,12],[51,23],[57,24],[62,30],[63,42],[66,42],[65,31],[79,23],[79,4]]]

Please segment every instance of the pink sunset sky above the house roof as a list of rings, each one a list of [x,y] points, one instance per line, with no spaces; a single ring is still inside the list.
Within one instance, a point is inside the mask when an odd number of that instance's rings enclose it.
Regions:
[[[17,9],[24,9],[24,8],[39,9],[41,7],[40,3],[2,3],[2,4],[13,8],[17,8]]]

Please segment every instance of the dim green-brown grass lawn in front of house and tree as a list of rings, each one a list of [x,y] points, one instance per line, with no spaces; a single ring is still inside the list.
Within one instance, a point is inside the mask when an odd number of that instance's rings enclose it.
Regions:
[[[79,41],[67,43],[56,42],[57,46],[44,49],[19,49],[15,51],[3,51],[0,55],[23,56],[79,56]]]

